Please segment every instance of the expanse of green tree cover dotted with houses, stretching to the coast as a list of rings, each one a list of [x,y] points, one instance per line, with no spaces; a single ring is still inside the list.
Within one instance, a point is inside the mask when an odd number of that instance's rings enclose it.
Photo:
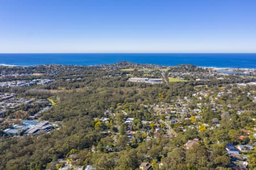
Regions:
[[[133,71],[125,70],[133,67]],[[231,168],[226,144],[256,142],[256,92],[255,85],[249,84],[256,81],[255,76],[218,74],[191,65],[168,69],[127,62],[106,66],[0,66],[1,73],[31,73],[3,76],[1,82],[55,79],[45,85],[0,87],[0,91],[48,99],[52,108],[40,114],[40,120],[59,125],[59,129],[38,135],[7,137],[3,129],[15,122],[1,120],[0,169],[57,169],[65,162],[74,169],[86,165],[138,169],[143,162],[161,170]],[[127,81],[127,74],[163,78],[162,71],[164,77],[172,76],[171,86]],[[177,76],[184,80],[173,78]],[[26,119],[42,107],[23,104],[9,109],[2,118],[17,118],[20,113]],[[30,112],[25,116],[21,111]],[[255,149],[242,154],[247,156],[249,167],[255,168]]]

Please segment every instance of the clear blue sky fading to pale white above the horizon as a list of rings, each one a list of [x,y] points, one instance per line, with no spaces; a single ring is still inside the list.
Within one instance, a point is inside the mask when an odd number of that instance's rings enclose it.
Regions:
[[[255,0],[0,0],[0,53],[255,53]]]

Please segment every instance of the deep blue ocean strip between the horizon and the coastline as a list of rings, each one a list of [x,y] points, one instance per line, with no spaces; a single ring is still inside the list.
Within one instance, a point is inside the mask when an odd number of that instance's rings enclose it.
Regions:
[[[36,53],[0,54],[0,64],[16,66],[102,65],[128,61],[174,66],[192,64],[205,67],[256,69],[256,53]]]

